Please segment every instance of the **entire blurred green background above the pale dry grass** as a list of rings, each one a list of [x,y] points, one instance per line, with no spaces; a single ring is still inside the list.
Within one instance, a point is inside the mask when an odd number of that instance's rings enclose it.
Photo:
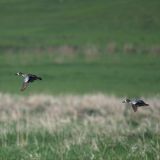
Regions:
[[[1,0],[1,92],[19,94],[14,73],[21,71],[44,79],[27,93],[158,94],[159,5],[158,0]]]

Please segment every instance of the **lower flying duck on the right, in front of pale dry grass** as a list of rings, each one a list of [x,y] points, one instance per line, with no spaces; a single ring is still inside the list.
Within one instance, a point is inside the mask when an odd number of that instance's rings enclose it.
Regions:
[[[136,100],[125,99],[122,103],[131,104],[134,112],[136,112],[138,110],[138,107],[149,106],[149,104],[145,103],[141,99],[136,99]]]

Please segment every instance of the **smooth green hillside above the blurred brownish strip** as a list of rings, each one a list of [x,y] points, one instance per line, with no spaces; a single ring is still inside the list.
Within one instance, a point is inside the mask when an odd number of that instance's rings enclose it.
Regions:
[[[1,48],[159,44],[159,0],[0,2]]]

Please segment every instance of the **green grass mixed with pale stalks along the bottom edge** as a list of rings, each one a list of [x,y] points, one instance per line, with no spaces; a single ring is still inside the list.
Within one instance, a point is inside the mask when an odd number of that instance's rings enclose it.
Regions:
[[[78,144],[74,140],[74,125],[67,130],[49,133],[39,131],[5,135],[1,137],[1,160],[83,160],[83,159],[158,159],[160,138],[151,131],[147,133],[123,135],[120,138],[107,134],[88,133],[86,141]],[[80,127],[80,126],[79,126]],[[84,128],[84,127],[83,127]],[[149,135],[149,136],[148,136]],[[77,141],[78,141],[77,137]],[[18,140],[17,140],[18,139]],[[3,142],[2,142],[3,140]],[[66,141],[73,144],[66,144]],[[6,141],[6,144],[4,144]],[[19,143],[19,144],[18,144]],[[94,143],[96,146],[94,146]],[[67,146],[68,145],[68,146]]]

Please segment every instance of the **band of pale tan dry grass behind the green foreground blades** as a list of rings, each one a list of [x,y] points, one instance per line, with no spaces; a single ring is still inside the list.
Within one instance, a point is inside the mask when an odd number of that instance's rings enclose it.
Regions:
[[[47,129],[52,132],[70,123],[80,122],[108,135],[118,132],[139,132],[147,128],[160,131],[159,98],[143,98],[149,107],[139,108],[134,113],[130,106],[122,103],[123,98],[104,94],[86,95],[30,95],[18,96],[0,93],[1,134],[10,132],[13,123],[21,130]]]

